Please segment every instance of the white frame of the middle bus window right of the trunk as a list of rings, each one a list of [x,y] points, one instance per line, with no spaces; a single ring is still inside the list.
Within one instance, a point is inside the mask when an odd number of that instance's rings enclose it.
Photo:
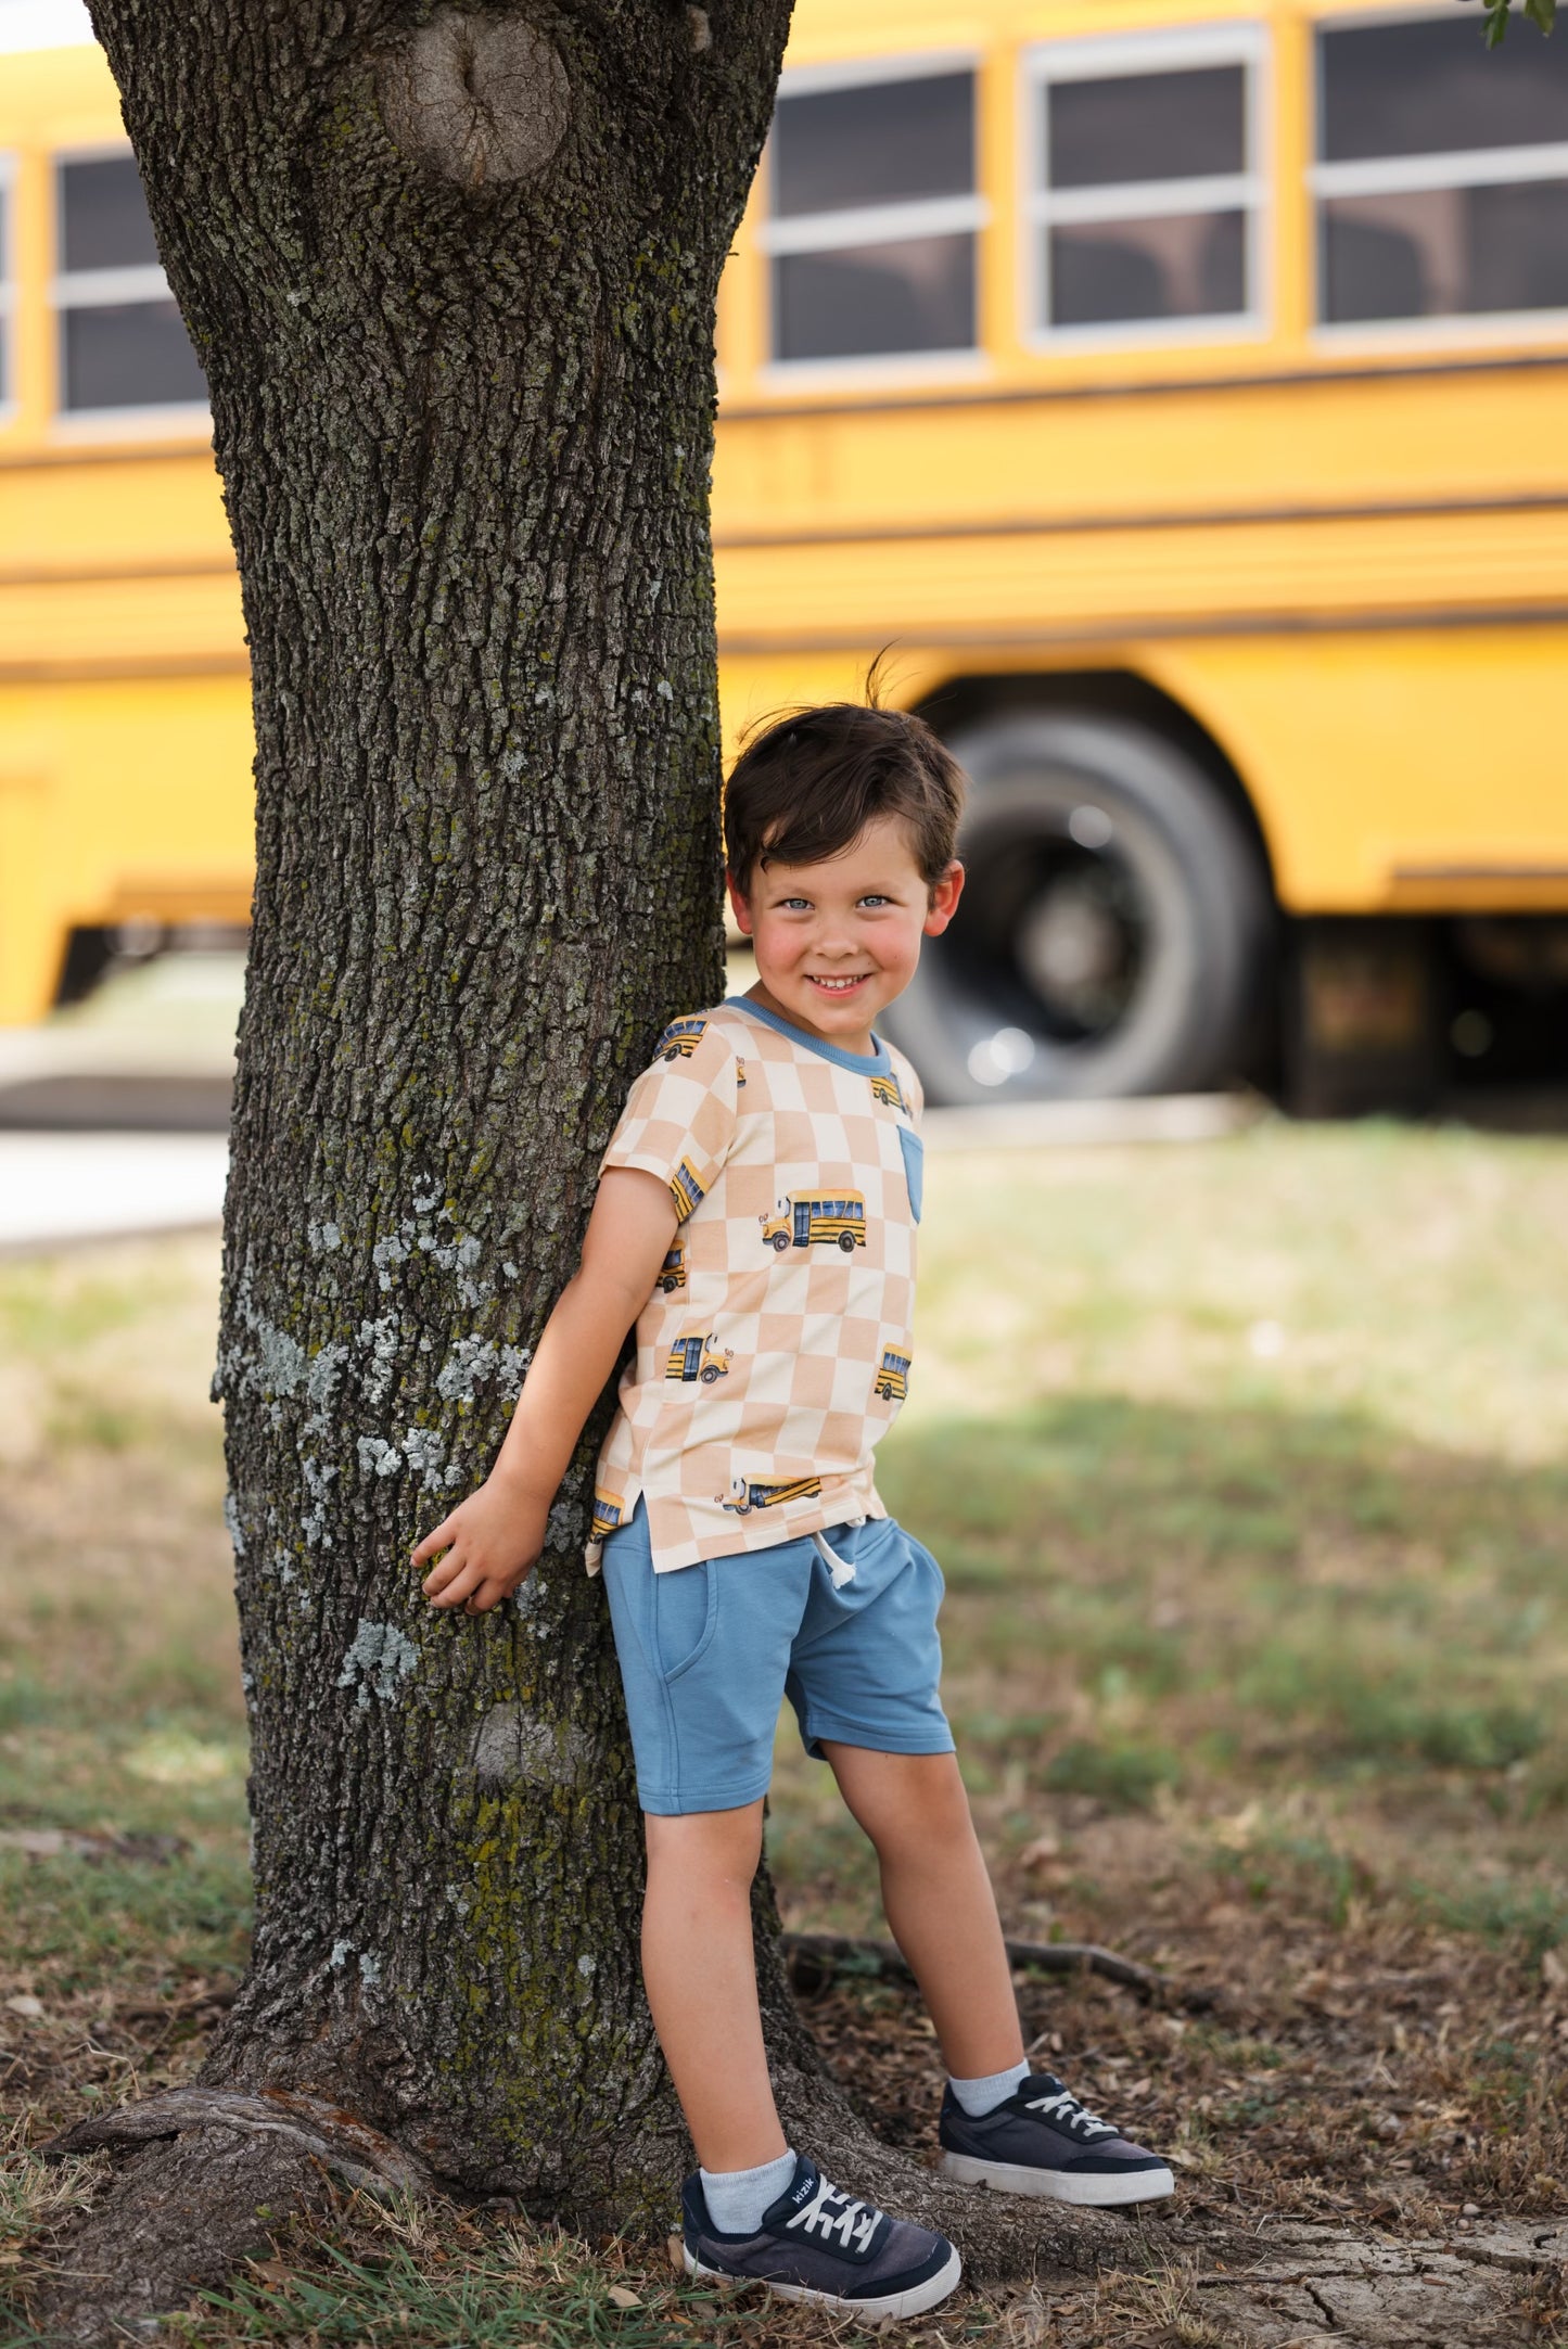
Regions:
[[[1046,89],[1053,82],[1098,82],[1135,73],[1182,73],[1192,66],[1241,66],[1246,171],[1208,179],[1114,181],[1103,188],[1046,186]],[[1159,26],[1126,33],[1039,40],[1018,59],[1018,322],[1025,350],[1190,350],[1194,345],[1267,343],[1274,319],[1274,38],[1262,16]],[[1239,211],[1246,223],[1246,310],[1171,319],[1117,319],[1053,327],[1048,235],[1074,221],[1161,218],[1190,211]]]

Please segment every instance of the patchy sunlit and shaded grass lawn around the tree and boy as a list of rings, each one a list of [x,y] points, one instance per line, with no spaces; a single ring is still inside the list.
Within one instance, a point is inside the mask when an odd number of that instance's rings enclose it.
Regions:
[[[1382,1125],[929,1167],[882,1489],[947,1569],[1009,1931],[1220,1992],[1020,1985],[1039,2060],[1171,2147],[1192,2201],[1389,2232],[1568,2213],[1566,1177],[1561,1142]],[[214,1292],[207,1240],[0,1264],[12,2264],[75,2189],[26,2145],[186,2077],[244,1954]],[[875,1931],[827,1773],[792,1729],[778,1752],[788,1921]],[[914,2001],[839,1983],[813,2018],[929,2149]],[[1048,2337],[1213,2337],[1180,2293],[1117,2290]],[[980,2302],[936,2323],[1027,2333]],[[614,2246],[362,2208],[188,2321],[209,2344],[731,2333],[846,2340]]]

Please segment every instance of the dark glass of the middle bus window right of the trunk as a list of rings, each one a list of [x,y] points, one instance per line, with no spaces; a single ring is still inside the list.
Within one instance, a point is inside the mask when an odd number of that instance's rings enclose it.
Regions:
[[[1251,28],[1034,52],[1037,334],[1258,322],[1260,54]]]

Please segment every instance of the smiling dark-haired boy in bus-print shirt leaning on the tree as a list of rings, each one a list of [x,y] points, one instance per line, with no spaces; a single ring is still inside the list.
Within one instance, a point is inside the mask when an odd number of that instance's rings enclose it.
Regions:
[[[872,1482],[907,1388],[922,1193],[919,1083],[875,1022],[959,902],[961,789],[919,719],[856,705],[785,719],[736,763],[729,893],[757,984],[661,1038],[496,1468],[414,1550],[444,1553],[437,1607],[522,1583],[635,1322],[590,1564],[602,1550],[646,1813],[649,2006],[701,2161],[686,2267],[860,2316],[936,2307],[959,2255],[827,2185],[778,2123],[750,1882],[783,1696],[877,1846],[950,2072],[943,2168],[1070,2203],[1173,2189],[1027,2069],[938,1698],[943,1576]]]

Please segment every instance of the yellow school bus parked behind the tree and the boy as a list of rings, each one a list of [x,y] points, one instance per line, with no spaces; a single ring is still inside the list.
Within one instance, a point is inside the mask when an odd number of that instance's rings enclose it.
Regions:
[[[719,312],[726,726],[973,775],[936,1099],[1507,1073],[1568,1001],[1568,40],[1460,0],[799,0]],[[0,85],[0,1019],[240,921],[200,376],[92,47]],[[1284,1041],[1284,1043],[1281,1043]],[[1528,1052],[1526,1052],[1528,1057]],[[1338,1076],[1335,1076],[1338,1071]]]

